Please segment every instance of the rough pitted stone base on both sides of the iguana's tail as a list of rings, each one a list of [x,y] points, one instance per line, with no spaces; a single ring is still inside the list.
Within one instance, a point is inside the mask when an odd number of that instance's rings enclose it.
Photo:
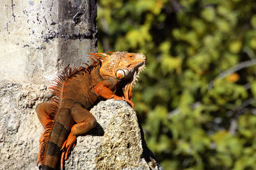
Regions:
[[[35,106],[51,97],[46,89],[46,85],[0,84],[0,169],[37,169],[43,128]],[[100,101],[91,112],[98,124],[77,138],[66,169],[161,169],[127,103]]]

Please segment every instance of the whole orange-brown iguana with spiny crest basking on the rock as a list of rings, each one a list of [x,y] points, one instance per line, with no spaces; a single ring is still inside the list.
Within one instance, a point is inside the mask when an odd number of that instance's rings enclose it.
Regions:
[[[36,106],[44,133],[36,164],[39,169],[56,169],[67,160],[79,134],[95,127],[96,120],[87,109],[102,99],[124,100],[132,108],[132,87],[145,67],[142,53],[90,53],[89,66],[65,69],[54,78],[49,89],[54,97]]]

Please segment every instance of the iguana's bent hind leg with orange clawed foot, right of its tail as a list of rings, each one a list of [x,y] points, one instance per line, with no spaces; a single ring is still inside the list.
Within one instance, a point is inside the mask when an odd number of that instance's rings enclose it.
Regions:
[[[76,137],[80,134],[90,131],[96,125],[96,119],[90,111],[84,109],[81,105],[76,104],[71,110],[72,119],[76,122],[71,128],[67,140],[62,145],[61,168],[64,160],[67,160],[71,150],[76,145]]]

